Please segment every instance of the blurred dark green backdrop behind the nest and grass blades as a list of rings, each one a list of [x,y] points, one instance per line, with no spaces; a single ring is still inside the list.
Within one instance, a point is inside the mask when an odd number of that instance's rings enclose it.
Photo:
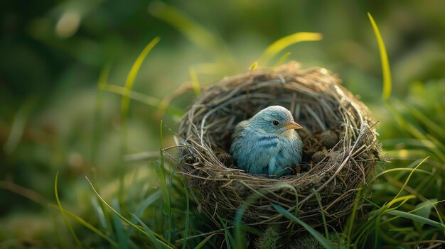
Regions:
[[[77,214],[90,209],[85,176],[91,177],[91,169],[104,192],[117,192],[119,179],[135,170],[151,176],[145,188],[156,187],[156,158],[145,156],[159,153],[161,119],[163,145],[173,145],[181,110],[194,98],[191,90],[181,93],[191,69],[202,86],[245,72],[268,45],[292,33],[322,33],[323,40],[292,45],[280,55],[291,52],[287,60],[303,68],[337,73],[370,106],[382,140],[409,137],[381,99],[380,55],[368,11],[390,57],[392,95],[439,118],[436,128],[443,131],[445,1],[77,0],[0,6],[0,247],[53,245],[55,224],[66,230],[45,205],[55,203],[57,171],[60,198]],[[122,94],[99,91],[97,82],[109,69],[107,84],[124,87],[136,57],[156,36],[161,41],[133,87],[147,101],[130,102],[124,150],[127,159],[144,160],[124,160]],[[171,107],[163,113],[161,103],[168,99]],[[409,113],[409,106],[404,110]],[[427,130],[422,123],[417,127]],[[392,145],[387,151],[397,156],[400,145]],[[409,155],[417,160],[424,154]],[[444,170],[444,158],[437,163]]]

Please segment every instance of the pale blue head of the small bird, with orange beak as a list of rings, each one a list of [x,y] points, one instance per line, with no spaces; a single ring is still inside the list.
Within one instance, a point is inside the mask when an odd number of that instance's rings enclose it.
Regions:
[[[295,123],[291,112],[283,106],[269,106],[262,109],[252,117],[249,126],[265,133],[288,137],[293,134],[292,130],[302,128],[298,123]]]

